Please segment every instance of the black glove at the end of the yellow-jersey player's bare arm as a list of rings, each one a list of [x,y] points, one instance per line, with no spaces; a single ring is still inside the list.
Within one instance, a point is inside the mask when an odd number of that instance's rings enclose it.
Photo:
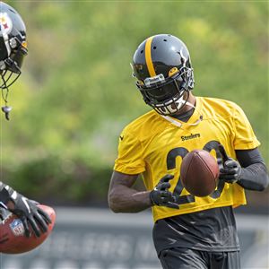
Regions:
[[[175,203],[176,197],[169,192],[169,180],[174,178],[172,175],[165,175],[161,178],[160,182],[150,193],[150,199],[152,201],[152,205],[160,205],[167,206],[170,208],[178,209],[178,204]]]

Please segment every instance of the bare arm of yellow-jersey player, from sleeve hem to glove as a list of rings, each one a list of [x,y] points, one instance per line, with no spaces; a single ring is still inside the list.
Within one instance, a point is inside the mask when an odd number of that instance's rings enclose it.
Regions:
[[[113,171],[108,190],[108,204],[114,213],[137,213],[152,206],[150,191],[138,192],[132,188],[138,175]]]

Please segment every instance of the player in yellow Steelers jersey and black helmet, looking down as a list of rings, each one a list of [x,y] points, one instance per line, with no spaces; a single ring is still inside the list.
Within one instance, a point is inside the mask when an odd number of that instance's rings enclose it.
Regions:
[[[269,180],[247,117],[229,100],[192,93],[190,55],[177,37],[145,39],[132,66],[136,86],[153,109],[120,134],[110,209],[137,213],[152,207],[153,241],[163,268],[238,269],[233,208],[247,203],[245,189],[263,191]],[[188,193],[180,180],[181,161],[195,149],[221,160],[218,187],[205,197]],[[140,174],[147,191],[132,188]]]

